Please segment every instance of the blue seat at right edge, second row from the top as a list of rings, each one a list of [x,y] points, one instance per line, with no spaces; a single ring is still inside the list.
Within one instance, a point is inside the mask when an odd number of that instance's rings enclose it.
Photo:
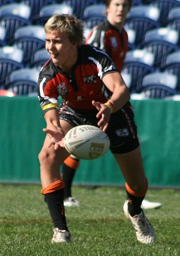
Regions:
[[[171,28],[156,28],[145,34],[144,48],[154,53],[154,66],[163,68],[170,52],[178,50],[179,33]]]

